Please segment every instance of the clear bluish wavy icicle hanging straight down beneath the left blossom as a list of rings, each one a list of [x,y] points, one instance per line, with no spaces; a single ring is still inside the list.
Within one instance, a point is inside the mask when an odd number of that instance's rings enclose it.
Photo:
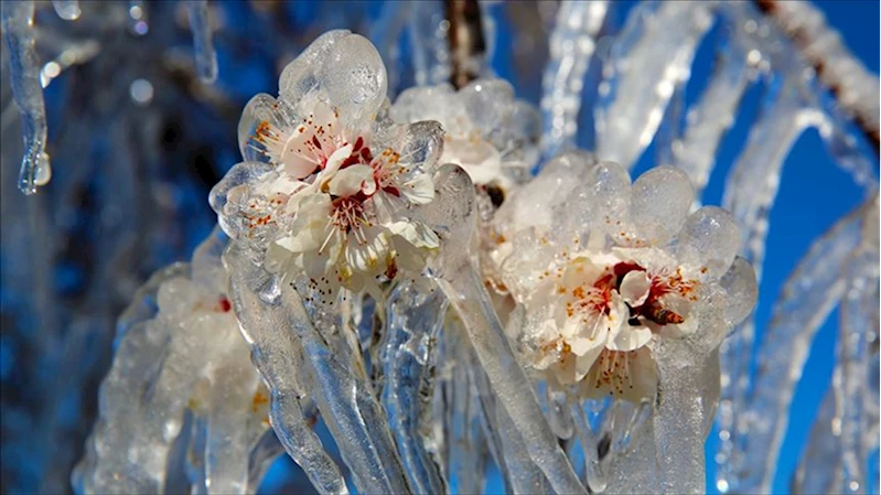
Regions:
[[[387,302],[385,386],[383,405],[398,443],[404,467],[416,493],[444,493],[445,481],[429,456],[420,416],[433,384],[427,376],[433,366],[432,348],[447,315],[447,298],[431,282],[404,282]],[[474,466],[471,466],[472,472]]]

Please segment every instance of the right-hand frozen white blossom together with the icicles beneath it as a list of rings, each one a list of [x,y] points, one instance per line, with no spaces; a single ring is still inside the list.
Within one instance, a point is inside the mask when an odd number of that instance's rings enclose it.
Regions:
[[[585,181],[566,187],[571,171]],[[753,270],[735,259],[740,226],[718,207],[689,214],[691,191],[674,168],[631,183],[616,163],[566,154],[499,208],[491,256],[496,287],[526,309],[515,340],[534,375],[579,398],[655,405],[647,454],[660,473],[653,491],[663,493],[703,492],[717,349],[756,298]],[[592,452],[598,440],[580,410]],[[585,458],[591,488],[604,489],[604,469]]]

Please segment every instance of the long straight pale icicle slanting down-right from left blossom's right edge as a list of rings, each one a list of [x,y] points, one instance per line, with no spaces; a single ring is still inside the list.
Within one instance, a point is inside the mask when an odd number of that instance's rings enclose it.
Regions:
[[[493,390],[520,432],[533,462],[545,473],[555,492],[584,493],[538,405],[529,379],[514,357],[490,294],[468,255],[475,223],[471,180],[461,168],[444,165],[436,176],[436,192],[438,204],[432,204],[434,218],[430,218],[429,224],[433,224],[442,243],[442,255],[436,265],[438,284],[464,322]]]

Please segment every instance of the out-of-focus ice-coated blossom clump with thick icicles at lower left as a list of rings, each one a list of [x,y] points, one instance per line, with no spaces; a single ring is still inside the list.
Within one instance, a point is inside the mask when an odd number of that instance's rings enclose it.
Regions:
[[[269,395],[226,295],[224,246],[223,235],[213,234],[192,265],[153,277],[120,320],[101,419],[74,474],[79,493],[165,493],[172,446],[191,417],[204,424],[193,489],[256,489],[248,459],[269,428]]]

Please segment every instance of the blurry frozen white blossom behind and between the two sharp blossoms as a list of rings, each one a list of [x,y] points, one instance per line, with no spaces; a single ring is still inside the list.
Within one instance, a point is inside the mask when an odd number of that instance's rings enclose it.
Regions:
[[[477,79],[454,90],[450,85],[405,90],[390,109],[400,122],[437,120],[445,132],[441,163],[455,163],[479,189],[504,194],[525,182],[538,158],[540,117],[531,105],[514,99],[502,79]]]

